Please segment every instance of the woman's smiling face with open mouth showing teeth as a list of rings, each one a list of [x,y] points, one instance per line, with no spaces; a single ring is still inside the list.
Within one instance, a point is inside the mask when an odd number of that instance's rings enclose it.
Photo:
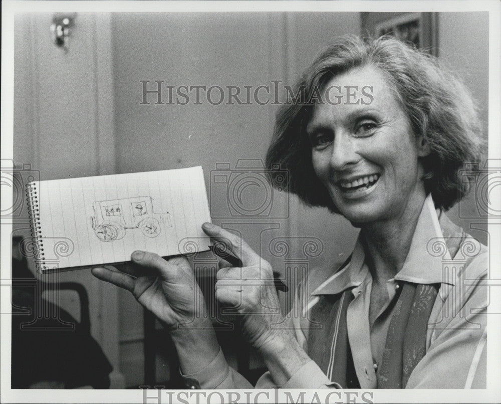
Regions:
[[[425,191],[418,157],[428,151],[386,73],[373,66],[350,70],[322,95],[307,133],[315,172],[339,211],[363,225],[420,210]]]

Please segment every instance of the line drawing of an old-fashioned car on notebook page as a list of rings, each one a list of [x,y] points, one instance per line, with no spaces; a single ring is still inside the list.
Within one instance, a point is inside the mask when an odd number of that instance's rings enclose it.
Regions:
[[[140,229],[146,237],[157,237],[161,225],[172,227],[168,212],[153,212],[151,196],[98,200],[92,204],[91,226],[101,241],[120,240],[127,229]]]

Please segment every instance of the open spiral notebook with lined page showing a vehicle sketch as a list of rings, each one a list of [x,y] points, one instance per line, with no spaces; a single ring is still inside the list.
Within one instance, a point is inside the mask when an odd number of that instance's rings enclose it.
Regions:
[[[37,270],[130,261],[134,250],[162,257],[208,250],[202,167],[30,182]]]

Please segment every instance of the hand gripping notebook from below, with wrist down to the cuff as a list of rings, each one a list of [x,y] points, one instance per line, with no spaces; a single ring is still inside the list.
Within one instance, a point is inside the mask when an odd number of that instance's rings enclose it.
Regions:
[[[170,331],[183,374],[206,367],[219,353],[205,301],[184,257],[164,260],[157,254],[135,251],[133,264],[119,271],[93,268],[92,274],[130,291]]]

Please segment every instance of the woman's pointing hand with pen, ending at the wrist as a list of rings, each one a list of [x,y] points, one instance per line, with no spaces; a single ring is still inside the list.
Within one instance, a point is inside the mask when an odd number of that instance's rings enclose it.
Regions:
[[[237,257],[243,264],[241,268],[226,266],[217,272],[215,297],[241,316],[247,341],[258,350],[266,351],[283,344],[284,337],[294,338],[280,326],[284,316],[280,312],[271,265],[238,236],[210,223],[202,228],[218,250]]]

